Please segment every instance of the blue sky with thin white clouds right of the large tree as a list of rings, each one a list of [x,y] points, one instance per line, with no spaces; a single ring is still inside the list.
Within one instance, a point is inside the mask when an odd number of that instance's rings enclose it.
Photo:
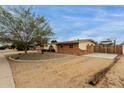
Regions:
[[[84,38],[124,41],[124,6],[41,5],[32,9],[50,22],[56,33],[53,39],[58,41]]]

